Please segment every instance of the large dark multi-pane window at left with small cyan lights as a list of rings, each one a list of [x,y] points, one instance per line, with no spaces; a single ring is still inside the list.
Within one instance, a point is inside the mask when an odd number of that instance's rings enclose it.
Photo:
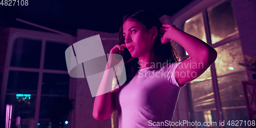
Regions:
[[[3,82],[1,94],[3,117],[6,104],[12,104],[11,127],[16,127],[18,116],[22,127],[51,127],[56,122],[50,119],[67,127],[65,121],[71,122],[70,89],[73,87],[67,71],[65,50],[75,40],[58,34],[13,28],[10,33],[14,34],[9,40],[8,68],[4,74],[7,79]]]

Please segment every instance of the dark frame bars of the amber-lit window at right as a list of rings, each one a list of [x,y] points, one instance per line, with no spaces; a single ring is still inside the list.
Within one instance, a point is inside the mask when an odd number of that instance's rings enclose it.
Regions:
[[[182,29],[184,26],[184,23],[186,20],[190,19],[191,17],[203,13],[203,21],[204,21],[204,28],[205,28],[205,34],[206,34],[206,40],[207,44],[209,44],[212,48],[219,47],[221,45],[227,44],[228,42],[239,39],[239,32],[237,34],[234,34],[232,36],[229,36],[221,41],[216,42],[215,44],[211,44],[211,37],[210,37],[210,29],[209,29],[209,24],[208,24],[208,15],[207,15],[207,8],[210,6],[213,6],[222,0],[208,0],[208,1],[203,1],[203,0],[195,0],[188,4],[186,7],[184,7],[182,10],[180,10],[178,13],[174,14],[172,17],[168,19],[168,22],[171,24],[174,24],[177,28]],[[231,1],[232,4],[232,1]],[[236,20],[236,19],[234,19]],[[185,50],[183,50],[183,55],[182,59],[188,58],[188,55],[186,55]],[[217,114],[217,120],[223,121],[223,114],[222,114],[222,108],[221,108],[221,101],[220,101],[220,95],[219,95],[219,89],[218,89],[218,81],[217,81],[217,74],[216,74],[216,68],[215,68],[215,62],[212,63],[210,66],[210,71],[211,71],[211,79],[212,79],[212,88],[214,92],[214,98],[215,98],[215,106],[216,106],[216,114]],[[187,94],[191,96],[190,92],[190,84],[187,84],[186,86],[186,91]],[[191,97],[188,95],[188,103],[192,105],[192,100]],[[190,110],[190,117],[188,117],[191,121],[195,121],[194,117],[194,111],[193,111],[193,106],[188,106]]]

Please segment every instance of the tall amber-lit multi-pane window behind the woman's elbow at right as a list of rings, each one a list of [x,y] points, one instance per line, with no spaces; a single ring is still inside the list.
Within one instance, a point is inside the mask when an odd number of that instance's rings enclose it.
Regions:
[[[248,120],[241,83],[247,80],[247,75],[246,69],[238,64],[243,62],[243,53],[231,1],[224,0],[211,5],[187,19],[183,27],[185,32],[207,42],[218,53],[215,67],[209,67],[190,82],[188,89],[193,106],[193,121],[219,124],[219,119],[225,122]],[[215,100],[215,93],[218,93],[220,102]],[[217,114],[218,105],[222,112],[220,116]]]

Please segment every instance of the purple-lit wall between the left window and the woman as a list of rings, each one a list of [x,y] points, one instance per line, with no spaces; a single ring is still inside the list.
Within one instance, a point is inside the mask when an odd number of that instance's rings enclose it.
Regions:
[[[77,41],[94,35],[100,35],[105,53],[118,43],[117,33],[97,32],[91,30],[78,29]],[[91,96],[89,85],[86,78],[76,78],[76,93],[75,93],[75,128],[79,127],[111,127],[111,119],[98,121],[93,118],[93,103],[95,97]]]

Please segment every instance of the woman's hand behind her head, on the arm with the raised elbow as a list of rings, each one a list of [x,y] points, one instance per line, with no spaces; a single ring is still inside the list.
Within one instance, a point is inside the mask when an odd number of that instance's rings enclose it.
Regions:
[[[166,42],[172,41],[172,37],[174,35],[174,30],[179,30],[175,25],[167,25],[163,24],[163,27],[160,28],[160,37],[162,44]]]

